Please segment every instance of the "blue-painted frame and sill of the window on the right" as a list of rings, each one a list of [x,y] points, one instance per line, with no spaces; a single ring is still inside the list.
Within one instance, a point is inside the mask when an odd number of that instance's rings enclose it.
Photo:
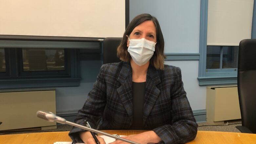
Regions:
[[[237,84],[237,68],[206,69],[208,0],[200,3],[199,86]]]

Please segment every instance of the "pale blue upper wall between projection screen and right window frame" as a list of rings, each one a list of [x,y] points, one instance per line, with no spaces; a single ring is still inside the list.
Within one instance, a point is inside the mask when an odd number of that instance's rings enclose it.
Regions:
[[[167,52],[199,52],[200,0],[130,0],[130,21],[149,13],[159,20]]]

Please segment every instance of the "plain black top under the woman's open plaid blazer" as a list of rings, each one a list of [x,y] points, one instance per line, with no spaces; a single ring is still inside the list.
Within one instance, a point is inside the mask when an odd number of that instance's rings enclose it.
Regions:
[[[143,130],[143,106],[146,82],[133,82],[133,124],[130,129]]]

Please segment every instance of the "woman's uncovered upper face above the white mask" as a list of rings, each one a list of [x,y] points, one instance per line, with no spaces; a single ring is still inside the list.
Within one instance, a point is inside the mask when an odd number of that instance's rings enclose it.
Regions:
[[[156,30],[156,27],[155,27],[153,21],[151,21],[151,20],[144,21],[143,23],[141,23],[140,25],[135,27],[133,29],[133,31],[131,32],[129,38],[130,39],[145,38],[147,40],[150,40],[150,41],[153,41],[156,43],[157,42],[157,30]],[[129,43],[130,43],[130,41],[127,38],[127,47],[129,47]]]

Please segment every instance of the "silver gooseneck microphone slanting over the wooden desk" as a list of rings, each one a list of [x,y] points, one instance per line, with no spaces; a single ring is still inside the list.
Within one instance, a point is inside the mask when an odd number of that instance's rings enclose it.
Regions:
[[[81,129],[84,129],[84,130],[87,130],[87,131],[103,134],[103,135],[106,135],[106,136],[109,136],[109,137],[112,137],[112,138],[115,138],[115,139],[118,139],[118,140],[121,140],[121,141],[124,141],[124,142],[127,142],[127,143],[139,144],[137,142],[134,142],[134,141],[131,141],[131,140],[128,140],[128,139],[124,139],[124,138],[121,138],[121,137],[118,137],[118,136],[115,136],[115,135],[112,135],[112,134],[108,134],[108,133],[101,132],[101,131],[98,131],[98,130],[95,130],[95,129],[92,129],[92,128],[89,128],[89,127],[86,127],[86,126],[79,125],[79,124],[74,123],[74,122],[67,121],[65,118],[59,117],[59,116],[55,115],[52,112],[39,110],[39,111],[36,112],[36,115],[37,115],[37,117],[42,118],[42,119],[47,120],[47,121],[50,121],[50,122],[68,124],[68,125],[72,125],[74,127],[78,127],[78,128],[81,128]]]

